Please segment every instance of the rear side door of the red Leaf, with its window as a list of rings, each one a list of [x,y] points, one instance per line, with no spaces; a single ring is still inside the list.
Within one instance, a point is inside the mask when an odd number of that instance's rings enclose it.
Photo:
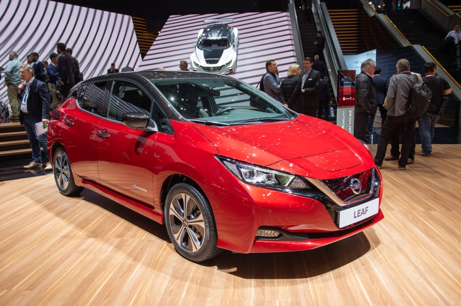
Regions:
[[[73,171],[83,179],[99,183],[97,130],[106,116],[107,81],[85,84],[72,93],[76,104],[62,116],[63,140]]]

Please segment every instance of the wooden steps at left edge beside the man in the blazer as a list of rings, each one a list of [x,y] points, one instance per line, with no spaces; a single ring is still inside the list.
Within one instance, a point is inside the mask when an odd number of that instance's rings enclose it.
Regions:
[[[24,126],[19,122],[0,123],[0,161],[27,159],[31,154]]]

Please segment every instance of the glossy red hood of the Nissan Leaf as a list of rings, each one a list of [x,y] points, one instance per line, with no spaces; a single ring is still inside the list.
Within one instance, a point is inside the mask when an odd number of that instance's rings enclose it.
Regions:
[[[194,126],[221,156],[285,171],[289,167],[289,172],[300,175],[328,179],[338,171],[360,171],[374,164],[367,149],[350,133],[305,115],[272,123]]]

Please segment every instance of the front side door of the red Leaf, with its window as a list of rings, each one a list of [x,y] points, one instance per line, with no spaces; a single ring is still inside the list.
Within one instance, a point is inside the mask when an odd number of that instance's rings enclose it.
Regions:
[[[140,85],[114,80],[107,118],[99,123],[97,156],[101,184],[153,206],[153,159],[157,133],[123,124],[128,112],[151,114],[153,100]]]

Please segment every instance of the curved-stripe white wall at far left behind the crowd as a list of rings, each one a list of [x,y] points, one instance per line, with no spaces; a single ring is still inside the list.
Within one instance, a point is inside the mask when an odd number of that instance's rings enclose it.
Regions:
[[[83,78],[106,73],[110,63],[136,70],[141,61],[131,16],[45,0],[0,0],[0,66],[11,51],[27,63],[32,52],[50,63],[56,44],[73,49]],[[8,100],[0,80],[0,99]]]

